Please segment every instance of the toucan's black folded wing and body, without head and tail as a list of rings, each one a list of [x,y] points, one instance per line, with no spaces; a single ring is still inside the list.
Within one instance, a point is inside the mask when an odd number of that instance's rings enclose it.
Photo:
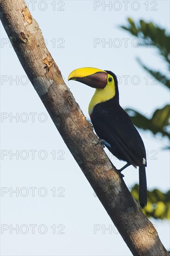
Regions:
[[[111,144],[111,148],[107,148],[118,159],[135,167],[143,163],[143,158],[146,159],[144,142],[120,105],[116,108],[105,107],[105,102],[96,105],[92,124],[98,137]]]

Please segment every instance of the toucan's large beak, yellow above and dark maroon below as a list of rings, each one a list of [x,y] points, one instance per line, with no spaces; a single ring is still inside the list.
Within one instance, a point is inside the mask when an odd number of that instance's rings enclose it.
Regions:
[[[95,67],[81,67],[69,74],[69,80],[79,81],[92,88],[105,88],[107,85],[107,72]]]

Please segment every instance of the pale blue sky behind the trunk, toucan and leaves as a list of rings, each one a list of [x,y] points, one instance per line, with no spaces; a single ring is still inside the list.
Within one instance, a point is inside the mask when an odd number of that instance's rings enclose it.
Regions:
[[[96,1],[96,4],[101,3],[101,6],[94,11],[94,1],[37,0],[34,1],[34,10],[31,2],[27,1],[33,17],[39,23],[52,57],[86,117],[94,90],[75,81],[67,82],[70,72],[78,67],[98,67],[111,70],[120,76],[122,82],[119,84],[119,93],[123,108],[135,108],[150,116],[156,108],[162,108],[169,102],[168,89],[157,81],[155,81],[156,85],[153,84],[150,75],[136,61],[136,57],[139,57],[149,67],[168,73],[163,60],[157,54],[157,49],[132,47],[133,37],[119,26],[126,25],[127,17],[131,17],[136,21],[139,19],[153,21],[169,32],[170,2],[127,3],[126,1],[127,10],[123,1],[117,2],[118,4],[115,1],[111,2],[111,10],[109,7],[103,10],[103,1]],[[147,4],[148,10],[146,10]],[[43,11],[45,8],[46,10]],[[58,8],[63,11],[57,10]],[[119,11],[114,10],[118,8]],[[134,9],[137,8],[139,9],[135,11]],[[151,11],[151,8],[157,10]],[[26,80],[26,74],[13,48],[10,47],[7,34],[2,25],[0,26],[0,54],[3,59],[0,68],[1,95],[3,95],[1,113],[9,115],[6,116],[7,119],[1,119],[0,123],[1,157],[2,154],[7,154],[3,161],[1,160],[1,187],[9,189],[9,192],[10,187],[13,190],[19,188],[18,197],[15,194],[10,196],[5,189],[3,191],[7,193],[4,193],[3,197],[1,194],[1,224],[9,226],[9,229],[1,235],[1,254],[4,256],[131,256],[130,250],[115,231],[105,209],[93,195],[90,184],[65,146],[32,84]],[[95,38],[102,43],[111,40],[112,45],[109,47],[106,44],[103,47],[100,43],[94,47]],[[127,40],[127,47],[123,39]],[[121,46],[115,47],[116,42],[121,42]],[[127,85],[124,80],[126,75],[130,75]],[[147,75],[148,85],[145,78]],[[18,85],[16,81],[12,81],[16,76],[19,80]],[[140,79],[138,85],[135,85],[136,80],[134,82],[132,80],[134,76]],[[33,114],[30,113],[37,113],[34,122]],[[18,115],[18,122],[16,119],[10,121],[11,115]],[[45,122],[42,121],[43,116],[47,118]],[[28,118],[28,121],[24,122],[24,118]],[[170,157],[169,152],[162,148],[167,145],[168,140],[160,136],[156,138],[150,132],[142,130],[139,132],[148,151],[146,169],[148,189],[157,188],[166,192],[170,189]],[[16,150],[19,150],[18,160],[12,155]],[[33,150],[37,150],[34,159]],[[154,154],[157,159],[151,159]],[[27,159],[23,160],[24,157]],[[43,160],[43,157],[46,159]],[[123,164],[115,159],[113,163],[118,168]],[[124,174],[127,187],[138,183],[138,171],[135,168],[127,168]],[[37,188],[35,196],[32,196],[31,187]],[[42,187],[46,189],[41,190]],[[58,196],[52,196],[54,187]],[[59,188],[64,188],[65,191]],[[43,191],[47,191],[44,197],[41,196]],[[28,195],[24,197],[23,194],[27,192]],[[62,194],[59,194],[60,192]],[[155,224],[164,246],[169,249],[169,221],[151,221]],[[29,227],[28,233],[24,235],[22,230],[19,230],[19,234],[16,234],[16,231],[10,234],[10,224],[13,227],[18,224],[19,228],[25,224]],[[35,234],[32,234],[30,224],[37,225]],[[44,235],[38,231],[41,224],[47,228]],[[54,224],[56,233],[60,230],[64,234],[53,234],[51,227]],[[96,224],[101,229],[94,234]],[[64,230],[61,231],[63,226],[58,225],[64,225]],[[106,230],[103,234],[103,225],[105,227],[111,225],[114,232],[111,231],[109,234],[109,230]]]

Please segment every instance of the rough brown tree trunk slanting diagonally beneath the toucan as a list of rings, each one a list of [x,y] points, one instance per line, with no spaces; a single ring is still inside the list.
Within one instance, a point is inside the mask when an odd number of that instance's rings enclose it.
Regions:
[[[103,148],[95,146],[98,138],[65,85],[25,2],[0,0],[0,19],[52,121],[132,254],[168,256]]]

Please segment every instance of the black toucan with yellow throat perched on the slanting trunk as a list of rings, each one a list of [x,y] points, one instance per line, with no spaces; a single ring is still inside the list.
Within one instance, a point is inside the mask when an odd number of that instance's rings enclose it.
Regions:
[[[144,208],[147,204],[146,151],[130,116],[119,104],[116,75],[107,70],[82,67],[73,70],[69,80],[96,88],[88,112],[99,143],[104,144],[119,160],[127,162],[120,172],[130,165],[139,166],[139,202]]]

